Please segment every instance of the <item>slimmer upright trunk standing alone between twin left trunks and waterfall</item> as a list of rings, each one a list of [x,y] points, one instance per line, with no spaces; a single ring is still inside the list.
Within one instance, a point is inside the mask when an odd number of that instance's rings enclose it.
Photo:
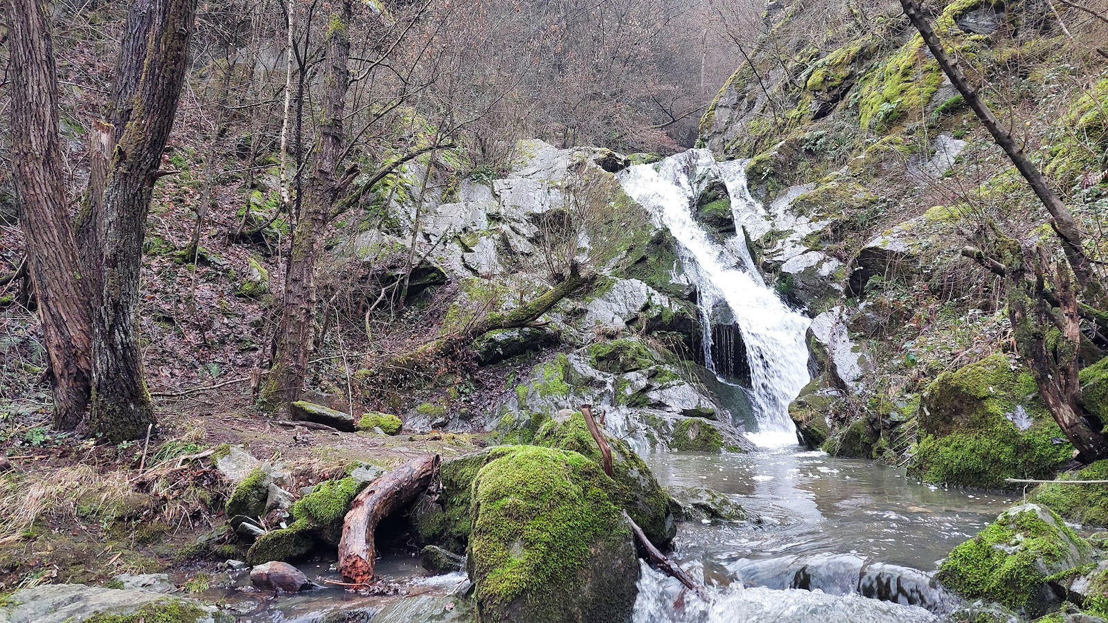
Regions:
[[[285,303],[280,325],[274,334],[273,366],[261,390],[261,402],[270,408],[297,400],[307,375],[316,308],[316,264],[322,253],[331,207],[341,190],[337,168],[342,154],[342,114],[350,83],[347,29],[351,11],[351,0],[341,0],[328,22],[326,91],[319,139],[301,214],[293,232],[293,248],[285,274]]]

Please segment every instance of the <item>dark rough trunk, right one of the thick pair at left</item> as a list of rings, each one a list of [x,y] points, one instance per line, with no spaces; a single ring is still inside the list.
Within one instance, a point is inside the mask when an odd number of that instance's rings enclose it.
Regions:
[[[176,116],[196,0],[137,0],[127,14],[114,121],[119,136],[101,203],[102,286],[93,315],[89,435],[136,439],[155,421],[138,350],[142,243],[162,153]],[[126,96],[131,94],[131,96]]]

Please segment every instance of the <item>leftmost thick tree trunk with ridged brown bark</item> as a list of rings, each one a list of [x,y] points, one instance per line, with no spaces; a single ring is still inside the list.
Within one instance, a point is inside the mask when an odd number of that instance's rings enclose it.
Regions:
[[[73,430],[89,404],[89,289],[70,227],[58,137],[58,76],[43,4],[9,0],[12,167],[31,280],[50,356],[54,427]]]

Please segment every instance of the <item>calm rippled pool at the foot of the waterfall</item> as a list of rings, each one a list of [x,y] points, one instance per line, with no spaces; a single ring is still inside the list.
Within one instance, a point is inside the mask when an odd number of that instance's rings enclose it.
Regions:
[[[922,570],[977,533],[1012,500],[922,484],[903,470],[793,448],[646,457],[667,487],[727,493],[760,524],[684,524],[676,558],[854,554]]]

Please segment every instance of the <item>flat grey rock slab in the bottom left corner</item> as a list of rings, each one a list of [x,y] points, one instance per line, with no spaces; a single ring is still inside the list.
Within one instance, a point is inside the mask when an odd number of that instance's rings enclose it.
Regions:
[[[0,600],[0,623],[230,623],[233,620],[214,605],[142,589],[43,584]]]

